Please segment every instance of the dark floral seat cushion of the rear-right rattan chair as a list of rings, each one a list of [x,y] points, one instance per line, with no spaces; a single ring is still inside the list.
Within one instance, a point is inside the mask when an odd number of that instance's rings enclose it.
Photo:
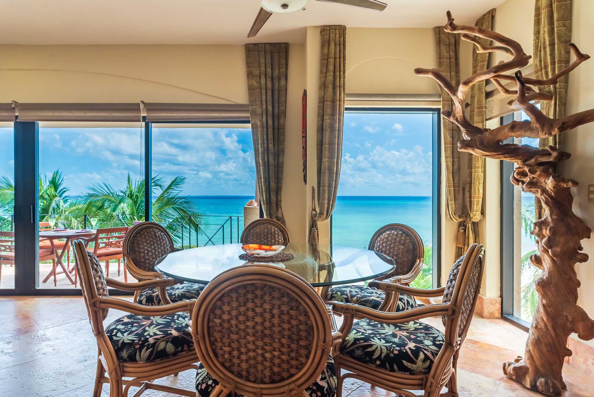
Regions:
[[[386,292],[365,285],[340,285],[330,288],[326,299],[336,302],[355,303],[377,310],[386,298]],[[409,295],[399,294],[396,311],[416,307],[416,301]]]

